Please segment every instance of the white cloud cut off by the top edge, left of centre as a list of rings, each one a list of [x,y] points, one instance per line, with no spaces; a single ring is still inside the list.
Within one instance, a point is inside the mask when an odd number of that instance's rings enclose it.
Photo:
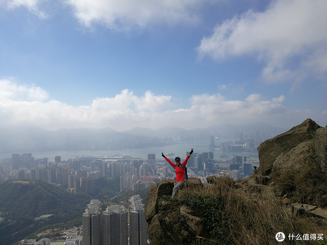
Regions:
[[[143,28],[152,23],[196,23],[193,13],[200,0],[68,0],[77,19],[86,26],[105,24],[108,28],[126,30]]]

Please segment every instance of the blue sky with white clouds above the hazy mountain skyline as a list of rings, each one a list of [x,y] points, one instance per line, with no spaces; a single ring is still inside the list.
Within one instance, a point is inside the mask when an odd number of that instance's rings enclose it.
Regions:
[[[326,13],[326,0],[0,0],[0,126],[325,126]]]

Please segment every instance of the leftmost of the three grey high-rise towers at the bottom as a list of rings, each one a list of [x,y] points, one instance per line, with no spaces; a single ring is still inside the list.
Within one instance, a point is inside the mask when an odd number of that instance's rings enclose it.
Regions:
[[[83,245],[101,245],[102,204],[91,200],[82,214]]]

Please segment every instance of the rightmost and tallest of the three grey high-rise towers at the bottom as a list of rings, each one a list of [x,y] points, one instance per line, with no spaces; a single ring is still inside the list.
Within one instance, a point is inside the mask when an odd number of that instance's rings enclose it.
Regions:
[[[147,244],[147,223],[144,205],[139,195],[129,199],[129,245]]]

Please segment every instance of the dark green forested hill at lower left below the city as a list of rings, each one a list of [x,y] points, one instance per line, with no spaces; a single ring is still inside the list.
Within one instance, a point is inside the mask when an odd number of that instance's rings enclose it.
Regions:
[[[81,217],[91,197],[72,194],[42,181],[13,181],[0,184],[1,244],[23,239],[45,224],[67,222]],[[35,218],[52,214],[48,221]],[[5,241],[5,243],[3,243]]]

